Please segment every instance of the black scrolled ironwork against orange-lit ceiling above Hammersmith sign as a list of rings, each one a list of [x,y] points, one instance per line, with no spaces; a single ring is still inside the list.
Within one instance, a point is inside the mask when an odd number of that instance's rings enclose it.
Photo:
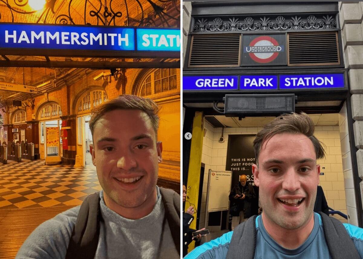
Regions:
[[[29,0],[1,3],[5,4],[0,9],[1,22],[179,27],[180,20],[179,0],[47,0],[41,11],[33,10]],[[175,16],[170,15],[172,9]]]

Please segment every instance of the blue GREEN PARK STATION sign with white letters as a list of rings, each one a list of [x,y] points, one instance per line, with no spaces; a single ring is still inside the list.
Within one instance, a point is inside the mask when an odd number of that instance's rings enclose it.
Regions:
[[[183,90],[237,90],[237,76],[184,76]],[[240,75],[240,91],[344,88],[344,74]]]

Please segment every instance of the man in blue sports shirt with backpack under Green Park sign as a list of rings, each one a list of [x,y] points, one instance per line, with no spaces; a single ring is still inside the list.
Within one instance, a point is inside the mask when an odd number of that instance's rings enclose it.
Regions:
[[[281,115],[257,133],[253,147],[252,172],[262,214],[185,258],[363,258],[363,229],[313,212],[317,160],[325,151],[314,136],[311,118],[304,113]]]

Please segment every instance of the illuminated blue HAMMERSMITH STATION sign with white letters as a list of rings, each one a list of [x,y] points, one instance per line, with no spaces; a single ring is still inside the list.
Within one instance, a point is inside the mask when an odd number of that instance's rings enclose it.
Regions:
[[[93,52],[95,50],[180,52],[180,30],[116,26],[0,24],[0,49],[14,48],[92,50]]]

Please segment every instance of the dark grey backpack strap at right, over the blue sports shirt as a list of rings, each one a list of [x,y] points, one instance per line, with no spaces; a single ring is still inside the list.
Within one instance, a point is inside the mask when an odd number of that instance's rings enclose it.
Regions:
[[[336,218],[328,217],[323,212],[319,212],[319,215],[323,221],[325,239],[331,257],[333,259],[360,259],[357,248],[342,222]]]

